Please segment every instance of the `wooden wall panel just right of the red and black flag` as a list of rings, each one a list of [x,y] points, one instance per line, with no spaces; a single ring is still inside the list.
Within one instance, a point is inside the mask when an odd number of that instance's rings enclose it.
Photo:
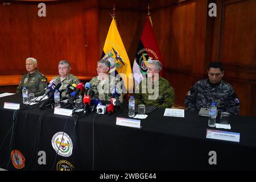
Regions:
[[[154,32],[166,69],[191,71],[196,3],[184,3],[152,13]],[[186,22],[186,23],[185,23]]]

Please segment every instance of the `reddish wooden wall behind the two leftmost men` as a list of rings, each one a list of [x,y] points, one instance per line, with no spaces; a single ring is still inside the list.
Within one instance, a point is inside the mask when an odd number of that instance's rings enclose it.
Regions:
[[[93,2],[93,1],[92,1]],[[26,72],[24,61],[27,57],[38,60],[39,70],[44,74],[58,74],[57,63],[68,60],[74,75],[85,75],[86,66],[98,52],[97,41],[93,52],[86,57],[86,27],[89,31],[98,29],[97,11],[85,13],[93,3],[84,1],[46,3],[46,17],[38,16],[36,3],[11,3],[0,6],[1,75],[15,75]],[[95,21],[89,22],[89,17]],[[91,26],[86,26],[86,20]],[[88,34],[96,37],[95,35]],[[86,59],[87,58],[87,59]],[[10,64],[13,65],[10,66]]]

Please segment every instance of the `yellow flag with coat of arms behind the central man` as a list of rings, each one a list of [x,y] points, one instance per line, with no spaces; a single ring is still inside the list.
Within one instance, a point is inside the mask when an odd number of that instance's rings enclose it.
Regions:
[[[110,62],[110,75],[120,76],[123,81],[123,93],[133,89],[133,75],[131,75],[130,60],[123,46],[121,36],[117,30],[117,24],[114,18],[109,27],[109,32],[105,40],[102,59]],[[129,78],[130,73],[130,78]]]

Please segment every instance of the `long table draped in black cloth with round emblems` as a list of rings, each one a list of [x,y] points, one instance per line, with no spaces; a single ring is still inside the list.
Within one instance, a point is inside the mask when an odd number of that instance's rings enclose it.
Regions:
[[[94,112],[77,117],[53,114],[51,106],[45,110],[35,107],[18,112],[14,130],[10,130],[6,137],[14,122],[14,110],[3,109],[4,102],[27,107],[21,103],[20,94],[0,98],[0,142],[3,143],[0,168],[57,170],[67,167],[104,171],[256,169],[254,117],[230,117],[230,131],[240,133],[238,143],[207,139],[207,129],[213,128],[208,127],[207,117],[201,117],[195,111],[185,110],[184,118],[176,118],[164,117],[164,109],[157,108],[141,120],[142,127],[137,129],[115,125],[116,117],[129,118],[127,105],[122,105],[113,115]],[[67,138],[60,141],[63,135]],[[62,149],[63,156],[57,155],[54,144],[59,144],[57,151]],[[13,150],[24,156],[22,169],[15,168],[10,160]],[[209,164],[210,151],[216,152],[217,164]],[[43,154],[46,160],[42,159]]]

